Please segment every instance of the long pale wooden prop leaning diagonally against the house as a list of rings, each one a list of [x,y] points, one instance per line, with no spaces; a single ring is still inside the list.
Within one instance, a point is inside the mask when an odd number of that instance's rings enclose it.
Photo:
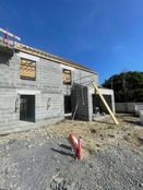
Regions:
[[[105,107],[107,108],[108,112],[110,114],[112,120],[114,120],[115,123],[118,126],[118,124],[119,124],[118,120],[116,119],[114,112],[112,112],[111,109],[109,108],[108,104],[106,103],[106,100],[105,100],[103,94],[99,92],[99,90],[98,90],[97,85],[95,84],[95,82],[93,82],[93,85],[94,85],[94,87],[95,87],[97,94],[99,95],[100,99],[103,100]]]

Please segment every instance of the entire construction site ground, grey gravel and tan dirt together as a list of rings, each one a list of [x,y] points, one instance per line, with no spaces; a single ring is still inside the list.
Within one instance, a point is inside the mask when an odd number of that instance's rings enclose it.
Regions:
[[[142,190],[143,127],[134,115],[45,124],[0,136],[0,190]],[[82,161],[69,134],[82,136]]]

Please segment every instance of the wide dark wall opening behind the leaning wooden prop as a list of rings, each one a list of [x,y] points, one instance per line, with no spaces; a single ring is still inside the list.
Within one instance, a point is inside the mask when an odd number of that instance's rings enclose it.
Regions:
[[[108,104],[108,106],[110,107],[110,109],[112,110],[111,95],[103,95],[103,96],[104,96],[106,103]],[[102,114],[102,112],[108,114],[99,95],[93,94],[93,114],[97,114],[98,110],[99,110],[99,114]]]

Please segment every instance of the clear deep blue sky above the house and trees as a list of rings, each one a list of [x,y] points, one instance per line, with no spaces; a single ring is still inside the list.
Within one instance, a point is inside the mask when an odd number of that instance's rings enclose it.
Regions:
[[[0,27],[96,70],[143,71],[143,0],[0,0]]]

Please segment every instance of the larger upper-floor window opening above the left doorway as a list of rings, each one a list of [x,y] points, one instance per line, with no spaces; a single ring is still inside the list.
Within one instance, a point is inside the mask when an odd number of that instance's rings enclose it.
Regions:
[[[22,72],[22,67],[24,67],[24,64],[25,63],[22,63],[22,61],[29,61],[31,63],[26,63],[26,64],[28,64],[27,66],[27,68],[29,69],[34,69],[34,73],[35,73],[35,76],[33,78],[33,76],[24,76],[24,75],[22,75],[21,74],[21,72]],[[31,66],[32,64],[32,66]],[[25,66],[26,67],[26,66]],[[21,58],[21,66],[20,66],[20,79],[22,79],[22,80],[27,80],[27,81],[36,81],[36,61],[34,61],[34,60],[31,60],[31,59],[26,59],[26,58]]]

